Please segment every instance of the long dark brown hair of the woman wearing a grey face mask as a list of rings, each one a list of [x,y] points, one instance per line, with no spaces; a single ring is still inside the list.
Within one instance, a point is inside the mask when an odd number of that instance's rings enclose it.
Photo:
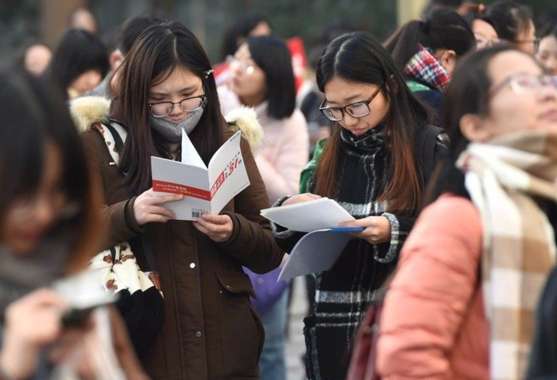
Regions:
[[[119,166],[128,184],[138,192],[151,187],[151,156],[158,156],[160,141],[149,123],[149,89],[162,82],[175,67],[184,67],[203,81],[207,106],[190,139],[208,164],[222,145],[225,119],[221,113],[209,58],[199,40],[184,25],[169,21],[145,30],[118,71],[112,116],[127,126],[127,139]]]

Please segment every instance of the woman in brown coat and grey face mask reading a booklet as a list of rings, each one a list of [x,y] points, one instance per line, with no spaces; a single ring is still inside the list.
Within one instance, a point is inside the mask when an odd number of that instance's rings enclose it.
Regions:
[[[156,196],[150,189],[151,156],[180,159],[182,131],[206,165],[233,134],[221,113],[210,62],[182,24],[153,25],[126,56],[116,87],[120,92],[108,117],[76,104],[75,119],[87,130],[84,142],[106,204],[110,236],[103,249],[131,241],[140,266],[152,251],[160,274],[166,319],[143,364],[153,379],[258,377],[264,331],[242,266],[269,272],[283,252],[259,215],[269,198],[249,143],[242,140],[240,147],[251,185],[221,215],[174,220],[164,202],[182,195]],[[251,132],[260,135],[253,123]],[[112,130],[115,139],[106,139]],[[143,244],[134,246],[135,237]]]

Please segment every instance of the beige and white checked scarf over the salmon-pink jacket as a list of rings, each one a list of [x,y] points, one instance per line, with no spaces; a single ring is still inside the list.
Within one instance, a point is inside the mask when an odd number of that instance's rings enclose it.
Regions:
[[[471,143],[458,167],[484,228],[482,285],[491,379],[523,379],[555,239],[534,198],[557,201],[557,136],[521,132]]]

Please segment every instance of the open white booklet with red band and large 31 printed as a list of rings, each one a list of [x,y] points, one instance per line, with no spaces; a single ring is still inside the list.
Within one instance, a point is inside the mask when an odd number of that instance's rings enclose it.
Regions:
[[[164,204],[178,220],[197,220],[204,213],[217,214],[240,191],[249,178],[240,150],[238,131],[211,158],[207,167],[188,135],[182,131],[182,162],[151,157],[153,191],[185,195]]]

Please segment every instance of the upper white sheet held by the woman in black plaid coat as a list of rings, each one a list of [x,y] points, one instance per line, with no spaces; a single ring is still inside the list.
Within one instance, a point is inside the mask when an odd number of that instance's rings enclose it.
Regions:
[[[329,198],[264,209],[261,215],[284,228],[302,233],[334,228],[342,222],[356,220]]]

